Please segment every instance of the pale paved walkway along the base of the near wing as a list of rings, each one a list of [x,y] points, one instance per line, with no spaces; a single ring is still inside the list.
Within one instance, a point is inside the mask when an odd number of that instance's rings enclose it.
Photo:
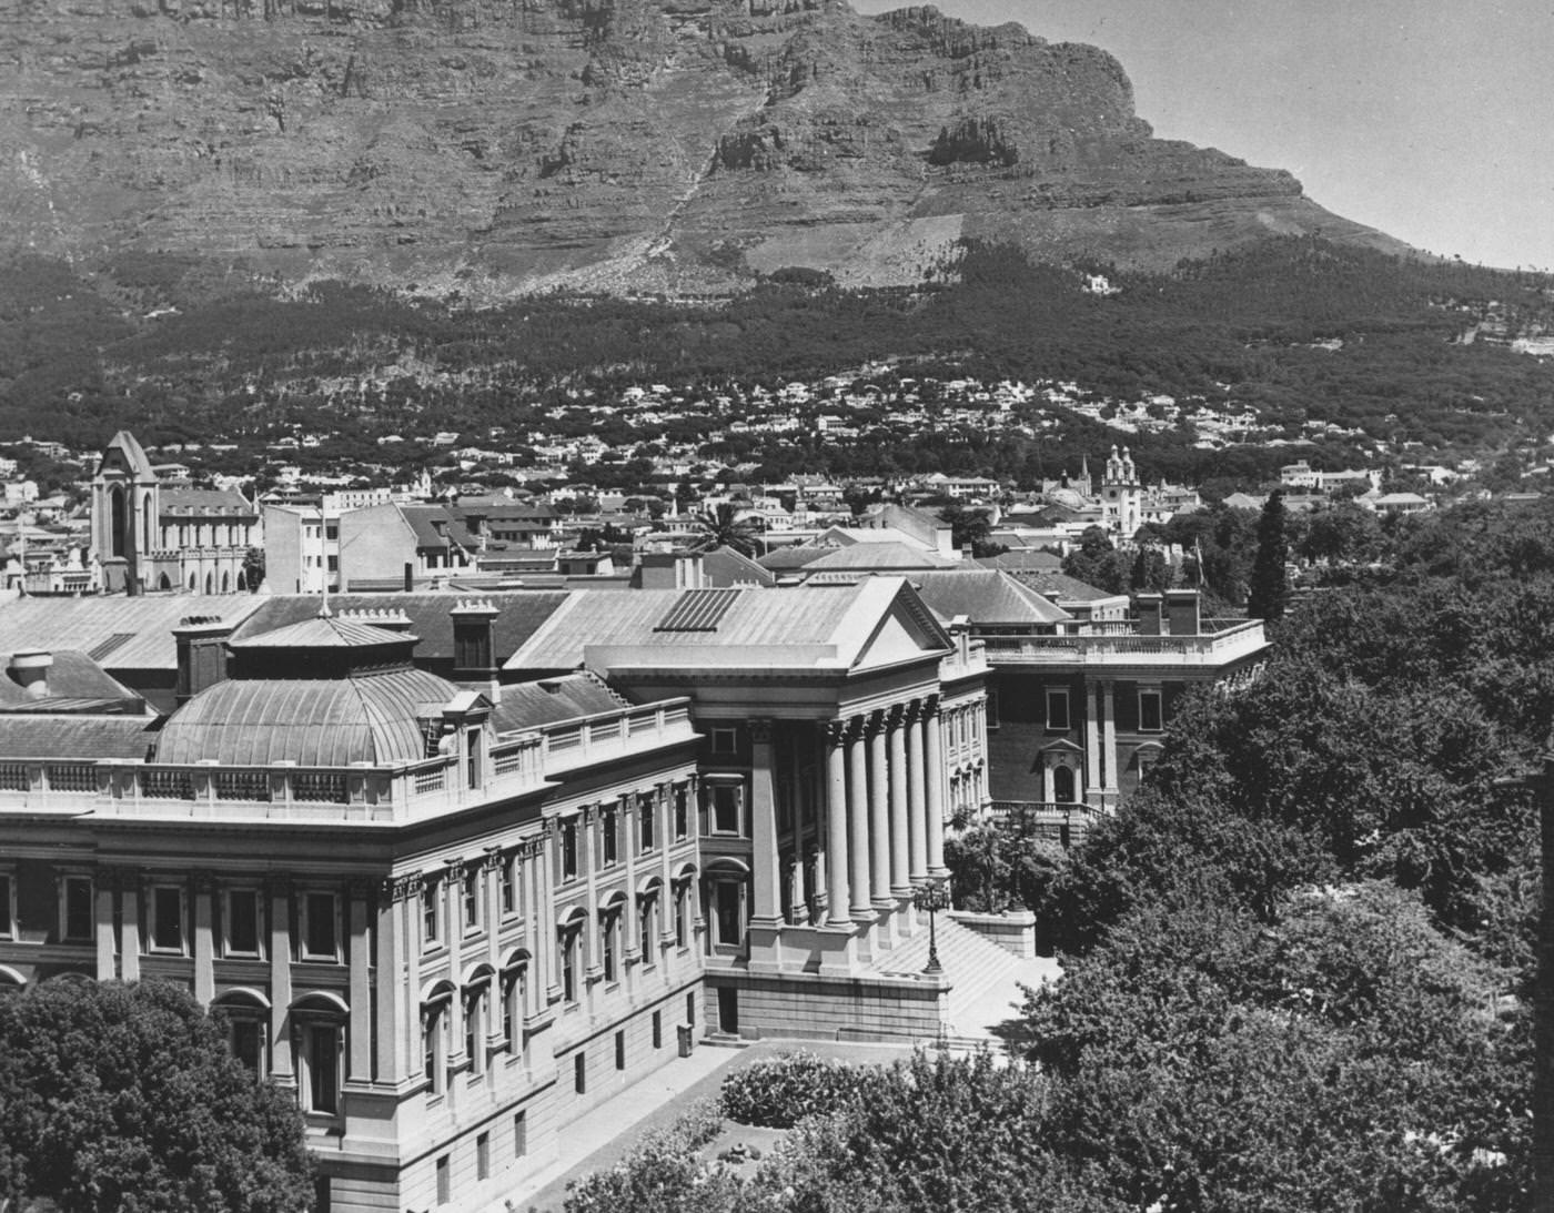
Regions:
[[[723,1048],[699,1042],[692,1056],[676,1058],[611,1097],[605,1107],[586,1112],[567,1124],[559,1134],[558,1157],[521,1179],[502,1199],[488,1204],[483,1213],[561,1213],[569,1182],[615,1165],[643,1134],[673,1124],[698,1100],[716,1097],[729,1070],[799,1048],[822,1058],[875,1064],[889,1064],[912,1053],[911,1045],[894,1044],[757,1041],[746,1048]]]

